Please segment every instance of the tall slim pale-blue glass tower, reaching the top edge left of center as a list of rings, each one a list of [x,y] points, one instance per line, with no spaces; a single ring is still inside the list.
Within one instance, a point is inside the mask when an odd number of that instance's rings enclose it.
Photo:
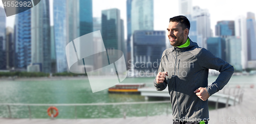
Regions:
[[[53,1],[54,21],[54,46],[56,51],[57,72],[67,71],[66,45],[67,45],[67,23],[66,23],[66,1]]]

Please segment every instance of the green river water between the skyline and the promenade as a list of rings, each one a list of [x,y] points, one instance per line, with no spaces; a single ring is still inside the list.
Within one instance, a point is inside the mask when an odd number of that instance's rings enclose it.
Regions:
[[[217,77],[208,78],[212,83]],[[153,86],[154,78],[126,78],[122,83],[145,83]],[[256,84],[255,76],[233,76],[227,87],[248,88]],[[159,101],[161,98],[150,98],[148,101]],[[84,104],[84,103],[123,103],[144,102],[144,96],[138,94],[111,94],[108,89],[92,93],[88,79],[78,80],[35,80],[8,81],[0,80],[0,103],[23,104]],[[56,106],[59,110],[57,118],[117,118],[126,116],[149,116],[172,114],[170,104],[139,105],[105,105],[105,106]],[[49,118],[49,106],[30,106],[32,118]],[[147,108],[147,110],[146,110]],[[214,109],[213,106],[209,106]],[[12,118],[29,118],[28,106],[10,106]],[[9,117],[8,106],[0,105],[0,117]]]

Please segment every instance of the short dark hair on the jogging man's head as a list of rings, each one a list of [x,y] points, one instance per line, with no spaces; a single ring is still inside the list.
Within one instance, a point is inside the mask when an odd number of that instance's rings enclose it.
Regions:
[[[183,16],[183,15],[175,16],[175,17],[170,18],[169,22],[170,21],[179,22],[181,24],[182,30],[190,29],[190,22],[186,16]]]

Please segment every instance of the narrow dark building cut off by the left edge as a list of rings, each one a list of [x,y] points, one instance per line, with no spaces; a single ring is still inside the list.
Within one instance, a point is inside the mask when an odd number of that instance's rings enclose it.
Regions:
[[[0,7],[0,70],[6,69],[6,15]]]

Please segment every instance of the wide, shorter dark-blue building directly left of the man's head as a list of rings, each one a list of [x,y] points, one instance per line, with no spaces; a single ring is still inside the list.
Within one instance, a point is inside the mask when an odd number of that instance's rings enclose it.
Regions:
[[[133,75],[140,71],[154,73],[158,70],[165,50],[165,31],[135,31],[131,42],[132,59],[129,61]],[[156,42],[157,41],[157,42]],[[129,70],[129,71],[131,71]]]

